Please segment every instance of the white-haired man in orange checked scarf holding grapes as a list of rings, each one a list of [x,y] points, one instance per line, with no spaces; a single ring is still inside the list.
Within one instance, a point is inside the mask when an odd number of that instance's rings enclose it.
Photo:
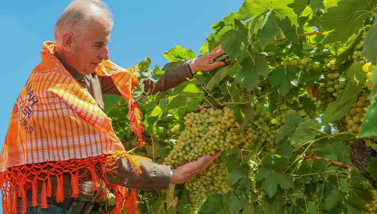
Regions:
[[[0,155],[4,213],[89,213],[93,199],[112,190],[114,211],[136,211],[134,189],[166,189],[204,170],[220,155],[204,155],[171,170],[168,165],[124,151],[103,113],[103,94],[128,101],[128,118],[140,135],[140,113],[131,89],[132,69],[109,60],[107,43],[112,14],[99,0],[73,1],[59,17],[56,43],[44,42],[42,62],[34,68],[12,111]],[[165,66],[152,93],[168,90],[198,70],[224,66],[214,62],[223,50]],[[128,190],[126,188],[131,188]]]

